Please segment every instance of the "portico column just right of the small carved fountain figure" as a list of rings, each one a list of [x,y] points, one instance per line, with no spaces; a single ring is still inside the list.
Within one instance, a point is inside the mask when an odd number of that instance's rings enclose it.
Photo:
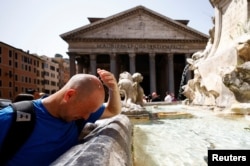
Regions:
[[[156,91],[156,84],[155,84],[155,53],[149,54],[149,72],[150,72],[150,93]]]

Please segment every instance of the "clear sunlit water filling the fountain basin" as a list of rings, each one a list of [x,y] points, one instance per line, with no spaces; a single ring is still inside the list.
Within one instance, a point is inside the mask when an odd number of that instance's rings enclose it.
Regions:
[[[134,166],[207,166],[208,149],[250,149],[249,121],[244,116],[186,105],[149,106],[147,109],[153,114],[187,112],[194,117],[134,125]]]

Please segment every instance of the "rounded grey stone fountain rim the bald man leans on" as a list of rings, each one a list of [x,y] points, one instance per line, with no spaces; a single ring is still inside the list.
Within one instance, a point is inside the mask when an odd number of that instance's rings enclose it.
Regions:
[[[96,122],[97,127],[54,161],[53,166],[131,166],[132,125],[126,115]]]

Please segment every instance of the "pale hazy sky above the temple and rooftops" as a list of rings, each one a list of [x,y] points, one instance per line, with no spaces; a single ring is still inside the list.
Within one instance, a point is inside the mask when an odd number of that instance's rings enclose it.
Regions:
[[[0,41],[54,57],[67,55],[61,34],[89,24],[88,17],[109,17],[138,5],[208,34],[214,9],[209,0],[0,0]]]

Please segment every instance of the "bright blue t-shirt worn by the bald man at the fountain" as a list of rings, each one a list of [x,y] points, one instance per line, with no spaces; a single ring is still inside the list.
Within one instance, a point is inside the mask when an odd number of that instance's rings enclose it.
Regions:
[[[78,127],[74,121],[65,122],[51,116],[43,106],[41,99],[34,100],[33,104],[36,112],[34,131],[13,159],[8,162],[8,165],[49,165],[78,142]],[[84,124],[98,120],[104,109],[105,107],[102,105],[95,113],[91,114]],[[11,125],[12,116],[11,107],[0,111],[0,146]]]

